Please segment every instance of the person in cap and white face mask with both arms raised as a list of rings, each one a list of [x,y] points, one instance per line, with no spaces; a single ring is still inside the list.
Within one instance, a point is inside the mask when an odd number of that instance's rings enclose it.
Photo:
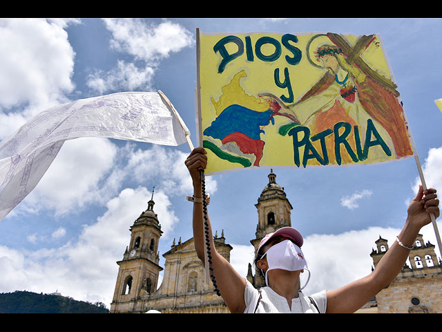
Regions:
[[[193,239],[198,258],[203,264],[205,248],[199,169],[205,169],[206,163],[206,151],[202,147],[193,149],[185,161],[193,181],[195,198]],[[216,252],[208,216],[213,275],[220,295],[231,313],[354,313],[379,291],[389,286],[398,275],[419,230],[430,223],[430,213],[434,213],[436,218],[439,217],[439,199],[436,190],[424,191],[421,186],[408,206],[403,229],[374,271],[346,286],[321,291],[311,297],[305,296],[300,289],[305,286],[300,285],[300,273],[305,270],[308,272],[308,269],[300,249],[303,239],[297,230],[281,228],[262,239],[257,252],[256,266],[265,275],[267,286],[258,291],[236,272],[227,259]]]

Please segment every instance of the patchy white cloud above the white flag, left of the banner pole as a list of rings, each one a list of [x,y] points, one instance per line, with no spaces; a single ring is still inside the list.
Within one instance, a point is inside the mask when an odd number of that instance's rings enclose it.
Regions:
[[[115,89],[151,89],[160,60],[193,44],[193,35],[170,21],[146,24],[138,19],[104,19],[104,22],[113,35],[111,47],[133,56],[135,61],[119,60],[111,71],[91,74],[87,84],[99,93]]]

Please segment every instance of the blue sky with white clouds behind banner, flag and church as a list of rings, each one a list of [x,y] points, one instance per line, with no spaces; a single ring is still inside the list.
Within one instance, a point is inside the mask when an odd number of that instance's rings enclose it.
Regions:
[[[122,91],[161,90],[195,128],[195,30],[212,33],[379,33],[410,122],[428,187],[442,188],[442,19],[0,19],[0,140],[49,107]],[[192,235],[189,145],[107,138],[64,143],[41,181],[0,221],[0,293],[61,293],[108,308],[129,228],[146,210],[162,226],[160,266],[175,239]],[[420,183],[414,158],[381,165],[274,169],[305,238],[305,293],[371,273],[379,237],[391,245]],[[231,264],[253,260],[260,193],[269,169],[206,177],[213,232]],[[439,230],[442,229],[438,221]],[[422,230],[436,245],[432,225]],[[436,255],[441,258],[436,246]],[[162,273],[160,282],[162,282]]]

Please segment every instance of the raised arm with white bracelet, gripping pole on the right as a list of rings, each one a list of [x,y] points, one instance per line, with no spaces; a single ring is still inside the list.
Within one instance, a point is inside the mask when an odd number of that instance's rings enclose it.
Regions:
[[[439,199],[436,190],[425,192],[422,186],[408,207],[408,216],[398,240],[403,246],[412,247],[419,231],[431,222],[430,213],[439,216]],[[401,272],[410,250],[394,241],[376,265],[372,274],[334,291],[327,291],[327,313],[354,313],[383,288],[387,288]]]

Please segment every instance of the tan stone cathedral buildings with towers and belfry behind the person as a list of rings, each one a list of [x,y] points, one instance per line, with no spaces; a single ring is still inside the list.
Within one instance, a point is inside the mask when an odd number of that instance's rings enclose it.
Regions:
[[[276,183],[271,170],[269,182],[262,190],[258,203],[256,238],[251,239],[255,252],[263,237],[285,226],[291,226],[292,206],[284,187]],[[110,313],[229,313],[213,284],[206,282],[205,269],[198,259],[193,238],[178,243],[163,254],[164,268],[159,265],[158,243],[162,234],[160,221],[153,210],[153,196],[146,211],[131,226],[131,239],[119,265]],[[215,232],[216,250],[230,261],[232,247],[226,243],[224,231]],[[377,250],[371,257],[374,267],[388,250],[387,241],[379,237]],[[442,313],[442,262],[437,261],[434,245],[416,239],[410,251],[412,267],[405,265],[394,282],[379,292],[358,313]],[[160,272],[164,270],[158,287]],[[265,286],[258,269],[249,264],[247,279],[253,286]]]

